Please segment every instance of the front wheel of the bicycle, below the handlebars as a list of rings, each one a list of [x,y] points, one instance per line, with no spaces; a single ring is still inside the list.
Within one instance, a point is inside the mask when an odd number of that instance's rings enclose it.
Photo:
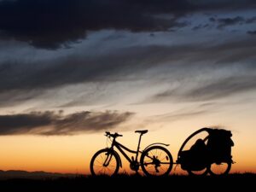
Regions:
[[[90,173],[93,176],[113,176],[119,172],[119,156],[108,148],[96,152],[90,160]]]

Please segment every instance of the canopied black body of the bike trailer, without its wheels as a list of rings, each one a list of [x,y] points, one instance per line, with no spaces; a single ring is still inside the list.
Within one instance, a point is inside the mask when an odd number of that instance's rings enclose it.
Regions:
[[[183,150],[189,139],[201,131],[207,131],[208,136],[196,140],[189,150]],[[181,165],[183,170],[201,171],[212,163],[232,162],[231,147],[234,146],[234,143],[231,137],[231,131],[223,129],[203,128],[195,131],[183,143],[178,153],[177,163]]]

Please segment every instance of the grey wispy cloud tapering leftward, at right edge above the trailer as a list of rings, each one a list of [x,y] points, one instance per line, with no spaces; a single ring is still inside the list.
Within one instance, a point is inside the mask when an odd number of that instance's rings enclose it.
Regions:
[[[197,84],[189,89],[165,90],[150,96],[142,103],[146,102],[202,102],[222,99],[227,96],[256,90],[256,76],[243,76],[228,79],[219,79],[212,83]]]

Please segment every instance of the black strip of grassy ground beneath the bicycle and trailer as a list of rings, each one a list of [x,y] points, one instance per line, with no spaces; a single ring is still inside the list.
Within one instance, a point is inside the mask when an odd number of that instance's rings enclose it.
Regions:
[[[1,191],[17,189],[22,191],[230,191],[255,188],[256,174],[230,174],[224,177],[189,177],[172,175],[169,177],[142,177],[119,174],[115,177],[58,177],[58,178],[11,178],[0,181]]]

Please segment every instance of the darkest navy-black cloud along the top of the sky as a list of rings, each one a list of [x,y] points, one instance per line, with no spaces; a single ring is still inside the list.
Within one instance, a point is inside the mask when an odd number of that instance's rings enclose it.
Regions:
[[[166,31],[183,26],[178,19],[195,11],[254,6],[251,0],[210,3],[189,0],[0,1],[0,37],[56,49],[85,38],[88,31]]]

